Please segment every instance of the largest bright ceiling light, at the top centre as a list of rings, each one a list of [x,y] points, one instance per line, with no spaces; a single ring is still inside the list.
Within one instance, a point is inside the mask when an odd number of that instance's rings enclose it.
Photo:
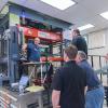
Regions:
[[[41,0],[41,1],[59,10],[66,10],[67,8],[76,4],[76,2],[73,2],[72,0]]]

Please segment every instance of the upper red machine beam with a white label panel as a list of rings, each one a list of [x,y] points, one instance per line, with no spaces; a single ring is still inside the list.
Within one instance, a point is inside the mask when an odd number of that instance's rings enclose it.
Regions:
[[[40,39],[52,41],[52,42],[62,41],[62,36],[54,32],[49,32],[49,31],[40,30],[36,28],[23,27],[19,25],[17,27],[23,29],[24,36],[26,38],[39,37]]]

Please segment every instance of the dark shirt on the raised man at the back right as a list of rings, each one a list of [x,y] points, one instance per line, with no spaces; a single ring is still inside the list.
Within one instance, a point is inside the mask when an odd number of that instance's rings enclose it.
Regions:
[[[72,44],[77,46],[78,51],[83,51],[87,55],[87,44],[83,37],[78,36],[73,38]]]

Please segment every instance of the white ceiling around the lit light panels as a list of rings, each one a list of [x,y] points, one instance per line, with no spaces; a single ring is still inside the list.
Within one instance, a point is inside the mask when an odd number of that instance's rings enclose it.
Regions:
[[[0,9],[8,0],[0,0]],[[75,24],[72,28],[92,24],[95,27],[84,30],[82,33],[100,30],[108,27],[108,21],[99,16],[99,13],[108,11],[108,0],[75,0],[76,5],[68,8],[65,11],[54,9],[40,0],[9,0],[29,9],[44,13],[46,15]]]

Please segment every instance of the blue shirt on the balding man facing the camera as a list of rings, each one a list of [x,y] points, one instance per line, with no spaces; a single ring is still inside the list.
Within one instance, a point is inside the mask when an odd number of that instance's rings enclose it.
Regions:
[[[29,62],[40,62],[40,48],[35,43],[27,44],[27,59]]]

